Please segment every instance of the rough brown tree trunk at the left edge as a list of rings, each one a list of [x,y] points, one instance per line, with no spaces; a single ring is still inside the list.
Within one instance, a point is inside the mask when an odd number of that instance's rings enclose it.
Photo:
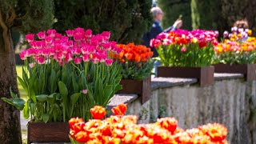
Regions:
[[[8,42],[6,38],[3,38],[3,30],[0,27],[0,98],[10,98],[10,87],[15,94],[18,94],[15,53],[10,29],[6,35]],[[3,102],[1,99],[0,143],[22,143],[19,110]]]

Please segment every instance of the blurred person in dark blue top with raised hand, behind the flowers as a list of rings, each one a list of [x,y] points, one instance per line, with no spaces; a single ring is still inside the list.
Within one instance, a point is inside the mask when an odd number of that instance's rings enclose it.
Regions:
[[[146,47],[150,47],[150,40],[153,38],[156,38],[158,34],[162,32],[169,32],[170,30],[176,30],[182,26],[182,20],[178,18],[178,20],[174,22],[173,26],[168,27],[166,30],[162,30],[162,27],[161,27],[162,16],[163,16],[162,10],[159,7],[153,7],[150,11],[154,17],[154,24],[151,26],[150,31],[143,35],[142,45],[145,45]],[[150,48],[151,48],[151,51],[154,52],[153,57],[158,57],[157,50],[155,50],[154,47],[150,47]],[[154,60],[154,74],[157,74],[157,67],[160,65],[161,63],[159,61]]]

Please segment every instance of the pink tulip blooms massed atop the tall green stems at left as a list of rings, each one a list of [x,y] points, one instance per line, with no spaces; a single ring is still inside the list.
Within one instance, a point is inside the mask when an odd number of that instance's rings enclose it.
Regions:
[[[38,64],[44,64],[54,59],[60,65],[70,61],[75,64],[92,61],[94,64],[105,62],[110,66],[113,60],[108,58],[108,52],[119,54],[122,51],[115,42],[109,41],[110,32],[107,31],[93,35],[92,30],[78,27],[66,30],[66,35],[59,34],[56,30],[39,32],[38,38],[35,38],[34,34],[27,34],[26,40],[31,47],[22,51],[22,60],[33,58]]]

